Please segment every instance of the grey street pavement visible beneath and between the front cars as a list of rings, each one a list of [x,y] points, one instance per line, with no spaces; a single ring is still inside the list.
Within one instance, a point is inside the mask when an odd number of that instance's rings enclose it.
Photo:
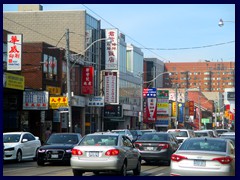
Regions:
[[[169,166],[164,163],[145,164],[142,162],[140,176],[169,176]],[[113,173],[101,173],[99,176],[115,176]],[[38,166],[36,161],[28,160],[21,163],[4,162],[3,176],[73,176],[71,166],[66,165],[46,165]],[[87,172],[83,176],[94,176]],[[132,171],[128,171],[128,176],[133,176]]]

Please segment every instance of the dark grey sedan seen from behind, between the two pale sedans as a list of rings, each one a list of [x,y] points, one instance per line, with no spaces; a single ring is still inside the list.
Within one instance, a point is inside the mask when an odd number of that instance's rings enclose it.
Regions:
[[[171,155],[178,148],[176,139],[167,132],[145,133],[134,145],[139,149],[142,160],[146,163],[166,161],[168,165],[170,165]]]

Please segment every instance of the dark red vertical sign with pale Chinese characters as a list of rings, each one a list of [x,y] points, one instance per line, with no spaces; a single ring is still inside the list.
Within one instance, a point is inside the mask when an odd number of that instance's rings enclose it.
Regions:
[[[93,66],[83,67],[82,69],[82,94],[93,94]]]

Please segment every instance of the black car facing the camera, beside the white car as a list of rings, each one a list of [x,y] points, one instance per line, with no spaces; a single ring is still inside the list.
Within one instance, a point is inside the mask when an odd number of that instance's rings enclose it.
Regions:
[[[37,164],[44,166],[45,162],[70,164],[72,148],[82,139],[79,133],[53,133],[41,146],[37,153]]]

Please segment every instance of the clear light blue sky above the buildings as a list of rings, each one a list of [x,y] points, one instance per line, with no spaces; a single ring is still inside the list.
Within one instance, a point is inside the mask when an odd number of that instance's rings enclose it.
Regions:
[[[234,4],[41,4],[44,11],[86,10],[101,28],[118,28],[145,58],[163,62],[235,61]],[[17,11],[3,4],[3,11]],[[219,27],[219,20],[224,26]]]

